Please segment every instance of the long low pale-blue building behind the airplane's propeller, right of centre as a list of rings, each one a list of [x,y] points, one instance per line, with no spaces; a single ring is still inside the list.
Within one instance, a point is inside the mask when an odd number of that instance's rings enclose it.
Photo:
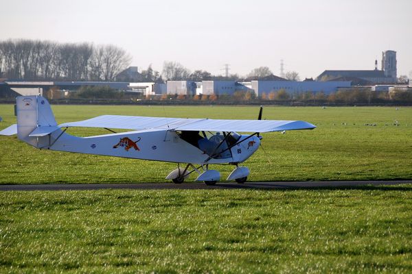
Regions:
[[[338,88],[350,88],[350,81],[252,81],[252,89],[255,90],[256,96],[262,96],[263,93],[270,93],[277,90],[286,90],[289,94],[301,92],[324,92],[329,94],[335,92]]]

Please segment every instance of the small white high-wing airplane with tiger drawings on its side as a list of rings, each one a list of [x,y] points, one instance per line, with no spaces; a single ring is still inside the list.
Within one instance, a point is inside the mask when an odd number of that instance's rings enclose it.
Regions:
[[[216,184],[220,173],[209,169],[209,164],[233,164],[235,169],[227,180],[244,183],[249,169],[239,164],[258,149],[260,132],[315,128],[304,121],[261,120],[262,107],[258,120],[102,115],[58,125],[49,102],[41,96],[17,97],[16,116],[17,124],[3,129],[0,135],[17,134],[20,140],[38,149],[174,162],[177,169],[166,179],[176,184],[194,172],[198,173],[196,181]],[[67,134],[69,127],[100,127],[111,133],[82,138]],[[116,133],[113,129],[130,131]]]

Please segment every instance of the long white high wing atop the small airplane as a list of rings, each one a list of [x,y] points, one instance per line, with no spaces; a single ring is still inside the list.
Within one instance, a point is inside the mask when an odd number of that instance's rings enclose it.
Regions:
[[[282,132],[314,129],[304,121],[181,119],[145,116],[102,115],[92,119],[63,123],[59,127],[103,127],[113,129],[168,129],[209,132]]]

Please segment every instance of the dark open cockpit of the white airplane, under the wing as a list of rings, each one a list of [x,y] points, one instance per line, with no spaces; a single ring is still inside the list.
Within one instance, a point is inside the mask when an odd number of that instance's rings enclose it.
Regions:
[[[229,148],[236,145],[240,139],[240,135],[236,132],[181,131],[176,133],[181,139],[214,159],[231,158]]]

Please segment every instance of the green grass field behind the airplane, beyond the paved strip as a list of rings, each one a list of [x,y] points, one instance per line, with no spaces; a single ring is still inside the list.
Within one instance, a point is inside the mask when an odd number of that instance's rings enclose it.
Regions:
[[[58,123],[100,114],[255,119],[258,107],[52,105]],[[12,105],[0,105],[4,128],[15,123]],[[245,166],[249,180],[412,179],[412,108],[265,107],[264,119],[304,120],[317,129],[262,134]],[[398,121],[398,126],[393,125]],[[365,124],[376,124],[369,126]],[[100,134],[98,129],[69,133]],[[16,137],[0,136],[0,184],[167,182],[175,164],[38,151]],[[216,166],[222,178],[232,166]],[[192,177],[194,179],[194,177]]]

